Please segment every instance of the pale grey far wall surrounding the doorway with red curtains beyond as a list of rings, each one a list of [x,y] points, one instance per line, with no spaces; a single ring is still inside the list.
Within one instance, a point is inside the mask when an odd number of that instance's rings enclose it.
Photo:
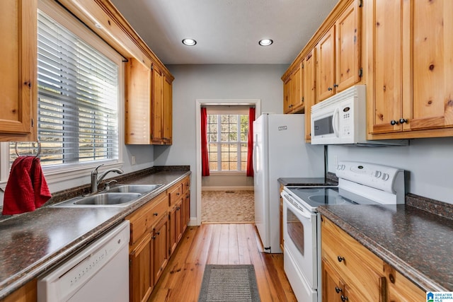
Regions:
[[[287,65],[168,65],[173,81],[173,145],[154,146],[154,165],[190,165],[190,216],[197,213],[197,99],[260,99],[262,112],[282,113]]]

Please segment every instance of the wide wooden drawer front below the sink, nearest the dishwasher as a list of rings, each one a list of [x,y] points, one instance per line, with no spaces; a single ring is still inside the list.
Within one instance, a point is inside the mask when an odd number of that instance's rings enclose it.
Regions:
[[[164,192],[126,217],[126,219],[130,221],[131,245],[136,243],[144,233],[147,233],[154,226],[154,223],[156,223],[158,219],[161,219],[161,217],[164,216],[168,208],[167,199],[168,196]]]

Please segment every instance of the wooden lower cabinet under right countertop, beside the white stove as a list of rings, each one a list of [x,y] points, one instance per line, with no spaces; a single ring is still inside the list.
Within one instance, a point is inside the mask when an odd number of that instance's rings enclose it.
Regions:
[[[332,221],[321,221],[322,300],[425,301],[425,291]]]

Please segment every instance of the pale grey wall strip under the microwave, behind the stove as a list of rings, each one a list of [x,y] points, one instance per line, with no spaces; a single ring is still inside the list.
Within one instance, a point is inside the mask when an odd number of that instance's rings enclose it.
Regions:
[[[453,137],[412,139],[409,146],[328,146],[328,170],[338,161],[365,161],[410,172],[408,191],[453,204]]]

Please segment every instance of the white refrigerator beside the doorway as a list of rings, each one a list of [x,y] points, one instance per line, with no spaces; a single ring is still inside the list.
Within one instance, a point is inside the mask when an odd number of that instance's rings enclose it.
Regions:
[[[263,114],[253,122],[255,223],[265,252],[282,252],[277,179],[325,175],[324,148],[305,143],[304,117]]]

